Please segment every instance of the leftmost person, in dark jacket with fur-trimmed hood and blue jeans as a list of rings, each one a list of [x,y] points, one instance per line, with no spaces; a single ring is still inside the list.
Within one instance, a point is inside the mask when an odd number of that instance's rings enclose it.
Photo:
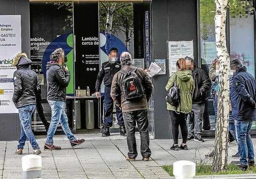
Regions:
[[[27,58],[26,53],[15,56],[12,66],[17,70],[13,74],[14,92],[12,101],[19,110],[21,120],[21,136],[16,153],[22,154],[26,138],[29,139],[33,153],[39,155],[40,147],[31,129],[31,116],[36,108],[36,95],[40,88],[37,74],[30,69],[32,61]]]

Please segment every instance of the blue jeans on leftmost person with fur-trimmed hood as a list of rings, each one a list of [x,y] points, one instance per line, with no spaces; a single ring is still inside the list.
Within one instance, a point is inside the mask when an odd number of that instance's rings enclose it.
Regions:
[[[31,125],[30,125],[31,116],[35,108],[36,108],[36,105],[28,105],[18,109],[20,120],[21,120],[21,137],[19,140],[19,145],[17,146],[18,149],[19,148],[23,149],[26,142],[26,138],[29,139],[29,142],[31,143],[33,150],[36,150],[39,148],[35,135],[33,134]]]

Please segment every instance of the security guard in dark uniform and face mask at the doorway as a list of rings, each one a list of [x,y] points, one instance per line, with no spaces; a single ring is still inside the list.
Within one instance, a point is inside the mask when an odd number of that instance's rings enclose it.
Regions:
[[[113,107],[114,101],[110,96],[111,83],[115,73],[117,73],[121,69],[120,63],[116,60],[118,59],[118,50],[116,48],[111,48],[109,52],[109,61],[102,63],[102,66],[97,75],[97,81],[95,85],[95,95],[99,97],[99,90],[102,81],[104,80],[104,119],[103,119],[103,127],[104,133],[102,133],[102,137],[110,136],[110,127],[113,125]],[[122,110],[120,107],[115,106],[116,117],[118,121],[118,125],[120,125],[120,135],[126,136],[126,129],[124,118],[122,114]]]

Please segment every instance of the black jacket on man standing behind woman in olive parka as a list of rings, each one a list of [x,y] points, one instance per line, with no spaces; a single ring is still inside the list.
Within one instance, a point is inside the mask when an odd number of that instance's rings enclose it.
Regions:
[[[195,82],[192,103],[203,104],[208,97],[207,94],[208,90],[210,89],[209,76],[201,68],[194,67],[194,70],[192,71],[192,77]]]

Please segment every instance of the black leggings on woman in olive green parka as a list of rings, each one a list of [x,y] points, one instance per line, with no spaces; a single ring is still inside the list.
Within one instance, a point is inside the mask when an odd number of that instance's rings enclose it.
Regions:
[[[169,110],[170,118],[172,122],[172,138],[173,143],[178,144],[179,126],[181,129],[182,143],[187,142],[188,128],[187,128],[187,116],[188,114],[180,113],[177,114],[175,111]]]

